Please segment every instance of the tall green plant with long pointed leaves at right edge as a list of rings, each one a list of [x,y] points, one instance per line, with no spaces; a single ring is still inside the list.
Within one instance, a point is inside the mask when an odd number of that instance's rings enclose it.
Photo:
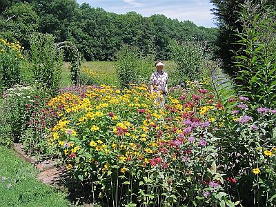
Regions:
[[[237,52],[239,90],[258,105],[276,106],[276,36],[275,11],[266,3],[246,1],[240,21],[244,28],[237,34],[237,44],[244,49]]]

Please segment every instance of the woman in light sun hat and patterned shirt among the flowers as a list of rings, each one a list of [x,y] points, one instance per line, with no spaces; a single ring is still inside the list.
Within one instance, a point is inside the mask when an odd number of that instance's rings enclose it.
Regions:
[[[150,93],[156,95],[155,104],[164,108],[166,95],[168,95],[168,74],[163,70],[162,61],[155,62],[156,71],[150,77]]]

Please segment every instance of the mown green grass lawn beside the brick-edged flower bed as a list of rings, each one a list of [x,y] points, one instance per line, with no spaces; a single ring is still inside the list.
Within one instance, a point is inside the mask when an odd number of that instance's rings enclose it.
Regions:
[[[65,193],[57,193],[35,177],[38,170],[0,146],[0,206],[65,207],[70,206]]]

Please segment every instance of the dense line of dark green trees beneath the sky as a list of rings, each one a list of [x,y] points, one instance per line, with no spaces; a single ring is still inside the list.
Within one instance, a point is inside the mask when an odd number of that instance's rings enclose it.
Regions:
[[[217,28],[198,27],[191,21],[136,12],[115,14],[75,0],[0,0],[0,37],[15,38],[26,48],[30,34],[49,33],[56,41],[71,41],[87,61],[112,60],[125,44],[157,59],[170,59],[172,39],[196,40],[215,48]]]

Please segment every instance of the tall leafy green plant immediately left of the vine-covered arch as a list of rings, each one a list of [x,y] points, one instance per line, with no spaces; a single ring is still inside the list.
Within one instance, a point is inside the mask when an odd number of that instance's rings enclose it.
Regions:
[[[50,34],[32,34],[30,68],[34,83],[39,83],[50,94],[55,94],[61,81],[63,52],[55,45]]]

